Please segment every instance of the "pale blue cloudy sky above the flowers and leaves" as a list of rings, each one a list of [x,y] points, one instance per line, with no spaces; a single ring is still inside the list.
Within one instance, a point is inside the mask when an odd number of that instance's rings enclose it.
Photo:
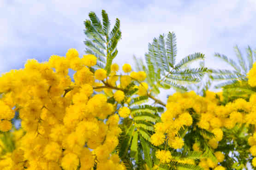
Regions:
[[[232,57],[235,44],[244,53],[256,48],[256,0],[0,0],[0,9],[0,73],[69,48],[82,56],[83,21],[101,9],[121,21],[118,64],[143,58],[148,43],[168,31],[177,36],[179,59],[201,52],[208,67],[225,66],[214,52]]]

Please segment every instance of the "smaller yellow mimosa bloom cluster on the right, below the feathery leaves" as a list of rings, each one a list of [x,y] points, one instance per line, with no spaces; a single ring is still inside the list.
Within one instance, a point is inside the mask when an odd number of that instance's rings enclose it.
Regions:
[[[248,73],[249,84],[256,86],[256,63]],[[199,121],[196,124],[199,128],[211,131],[215,137],[207,139],[209,146],[213,149],[218,147],[218,142],[222,140],[223,131],[221,128],[232,129],[236,123],[246,123],[256,125],[256,94],[252,94],[250,101],[244,99],[237,99],[232,103],[226,104],[226,106],[218,105],[218,99],[216,94],[221,93],[206,92],[206,97],[196,95],[191,91],[188,93],[175,93],[169,96],[167,100],[167,110],[161,115],[161,123],[155,124],[155,134],[151,136],[151,142],[155,146],[159,146],[164,142],[174,149],[180,149],[183,147],[184,142],[178,136],[178,130],[185,126],[192,124],[191,114],[188,109],[193,108],[196,114],[200,115]],[[256,132],[253,136],[250,136],[248,143],[251,146],[250,152],[252,156],[256,156]],[[199,143],[193,145],[193,150],[199,151]],[[218,162],[223,162],[225,156],[222,152],[214,152]],[[158,151],[156,157],[161,160],[162,163],[169,163],[172,160],[171,153],[169,151]],[[218,162],[214,162],[209,158],[201,159],[199,165],[208,170],[212,168],[214,170],[225,170],[224,167],[218,166]],[[256,158],[252,160],[253,166],[256,166]]]

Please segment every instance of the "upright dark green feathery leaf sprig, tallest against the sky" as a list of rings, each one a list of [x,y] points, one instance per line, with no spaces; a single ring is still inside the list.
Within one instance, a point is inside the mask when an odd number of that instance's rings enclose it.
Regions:
[[[109,74],[112,61],[118,53],[118,41],[121,39],[120,20],[116,18],[114,27],[110,31],[110,20],[104,10],[101,16],[102,23],[95,12],[90,12],[90,20],[84,21],[84,34],[87,36],[84,41],[85,53],[95,55],[98,59],[97,66],[105,68]]]

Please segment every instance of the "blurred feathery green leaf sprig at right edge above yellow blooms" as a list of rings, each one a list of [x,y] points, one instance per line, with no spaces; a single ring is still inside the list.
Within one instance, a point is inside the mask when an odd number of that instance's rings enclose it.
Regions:
[[[256,61],[256,56],[251,47],[246,48],[247,56],[239,50],[238,46],[234,47],[236,53],[235,59],[230,59],[226,55],[215,53],[215,57],[222,59],[232,70],[212,69],[211,79],[219,82],[214,88],[223,88],[225,100],[232,101],[238,97],[248,99],[250,94],[255,93],[256,89],[248,84],[247,73],[252,68],[252,64]]]

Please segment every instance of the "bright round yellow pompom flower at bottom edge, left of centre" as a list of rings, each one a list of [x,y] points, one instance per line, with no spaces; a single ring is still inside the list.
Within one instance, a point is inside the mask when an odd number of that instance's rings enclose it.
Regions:
[[[74,153],[67,153],[61,160],[61,166],[64,170],[77,170],[79,159]]]

